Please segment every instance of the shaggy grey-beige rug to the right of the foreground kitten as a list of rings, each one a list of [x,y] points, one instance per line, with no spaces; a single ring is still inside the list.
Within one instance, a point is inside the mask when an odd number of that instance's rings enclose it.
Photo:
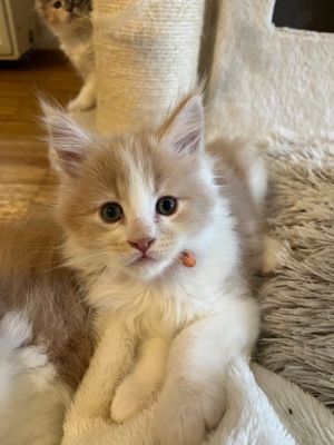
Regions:
[[[334,412],[334,139],[273,140],[266,158],[283,247],[261,293],[258,362]]]

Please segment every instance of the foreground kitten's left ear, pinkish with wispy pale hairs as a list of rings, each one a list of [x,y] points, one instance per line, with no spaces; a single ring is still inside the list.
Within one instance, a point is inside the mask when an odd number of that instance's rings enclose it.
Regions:
[[[75,176],[86,157],[88,146],[91,145],[90,135],[60,108],[45,99],[40,99],[39,103],[43,112],[41,120],[48,130],[47,141],[56,152],[57,167],[60,171]]]

